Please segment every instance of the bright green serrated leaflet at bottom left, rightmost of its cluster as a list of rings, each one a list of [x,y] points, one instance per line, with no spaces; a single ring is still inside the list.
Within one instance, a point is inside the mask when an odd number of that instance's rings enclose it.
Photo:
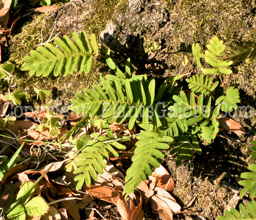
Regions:
[[[25,204],[27,210],[27,215],[33,217],[41,217],[49,210],[49,205],[41,196],[36,196],[32,198],[29,202]]]

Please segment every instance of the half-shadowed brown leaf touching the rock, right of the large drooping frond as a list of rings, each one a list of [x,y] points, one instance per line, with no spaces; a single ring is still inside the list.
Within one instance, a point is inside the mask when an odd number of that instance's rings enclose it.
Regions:
[[[171,175],[166,168],[164,168],[161,164],[160,167],[155,168],[155,170],[152,172],[152,176],[156,177],[156,185],[162,189],[166,189],[168,191],[172,191],[174,189],[174,180],[171,178]]]

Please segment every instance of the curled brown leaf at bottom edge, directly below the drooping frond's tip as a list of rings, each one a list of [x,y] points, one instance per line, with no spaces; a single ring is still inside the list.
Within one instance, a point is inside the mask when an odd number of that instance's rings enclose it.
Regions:
[[[131,220],[135,210],[135,205],[132,198],[128,197],[127,201],[119,199],[117,201],[116,207],[123,220]]]

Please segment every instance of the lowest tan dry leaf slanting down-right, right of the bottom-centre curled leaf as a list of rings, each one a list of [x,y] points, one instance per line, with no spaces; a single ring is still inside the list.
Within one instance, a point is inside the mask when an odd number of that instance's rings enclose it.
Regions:
[[[159,212],[159,215],[164,220],[172,220],[173,219],[173,212],[171,208],[166,204],[165,201],[161,200],[157,196],[152,196],[150,198],[151,202],[151,208],[153,210],[157,210]]]

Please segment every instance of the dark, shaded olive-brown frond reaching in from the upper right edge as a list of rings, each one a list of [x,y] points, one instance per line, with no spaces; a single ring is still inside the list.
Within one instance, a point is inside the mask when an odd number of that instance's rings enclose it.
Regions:
[[[232,46],[226,47],[226,52],[222,52],[217,58],[222,60],[233,61],[233,65],[237,62],[244,61],[248,54],[249,60],[252,61],[256,57],[256,42],[244,42],[242,45],[234,43]]]

